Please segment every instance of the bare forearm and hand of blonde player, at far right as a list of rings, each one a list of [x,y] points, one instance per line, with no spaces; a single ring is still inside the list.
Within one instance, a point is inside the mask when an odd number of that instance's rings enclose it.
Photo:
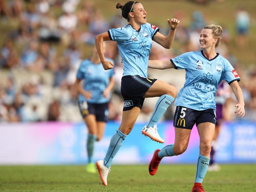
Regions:
[[[239,117],[243,117],[245,116],[245,102],[243,101],[242,89],[240,88],[237,81],[232,82],[230,86],[235,94],[235,98],[238,101],[238,103],[235,105],[235,107],[237,108],[235,114]]]

